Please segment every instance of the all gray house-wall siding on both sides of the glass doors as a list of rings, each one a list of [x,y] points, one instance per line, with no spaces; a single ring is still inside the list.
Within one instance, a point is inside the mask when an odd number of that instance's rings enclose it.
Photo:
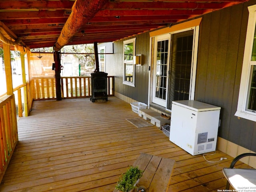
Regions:
[[[248,9],[256,0],[205,14],[199,32],[195,100],[220,106],[218,136],[256,151],[256,122],[238,119],[237,108]],[[133,37],[132,37],[133,38]],[[135,88],[122,84],[123,41],[114,43],[115,90],[140,102],[148,102],[149,33],[136,36],[136,54],[143,54],[136,66]]]

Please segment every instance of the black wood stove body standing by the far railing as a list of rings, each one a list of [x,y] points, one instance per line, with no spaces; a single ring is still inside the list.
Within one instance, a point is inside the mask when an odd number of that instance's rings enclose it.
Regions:
[[[105,72],[91,73],[92,96],[90,100],[105,99],[108,101],[108,74]]]

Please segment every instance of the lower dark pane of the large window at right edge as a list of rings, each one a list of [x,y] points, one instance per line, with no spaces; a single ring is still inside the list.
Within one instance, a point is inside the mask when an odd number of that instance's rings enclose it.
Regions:
[[[252,80],[249,87],[248,110],[256,111],[256,66],[252,66]]]

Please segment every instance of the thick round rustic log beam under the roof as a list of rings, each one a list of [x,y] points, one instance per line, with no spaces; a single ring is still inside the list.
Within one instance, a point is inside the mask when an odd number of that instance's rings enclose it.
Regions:
[[[72,37],[95,16],[106,2],[108,0],[76,0],[72,12],[54,45],[54,50],[59,51],[68,44]]]

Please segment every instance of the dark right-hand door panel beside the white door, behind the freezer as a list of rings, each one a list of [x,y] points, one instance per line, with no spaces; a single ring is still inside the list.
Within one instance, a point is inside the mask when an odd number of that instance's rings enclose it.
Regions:
[[[172,34],[167,108],[173,100],[188,100],[194,30]]]

